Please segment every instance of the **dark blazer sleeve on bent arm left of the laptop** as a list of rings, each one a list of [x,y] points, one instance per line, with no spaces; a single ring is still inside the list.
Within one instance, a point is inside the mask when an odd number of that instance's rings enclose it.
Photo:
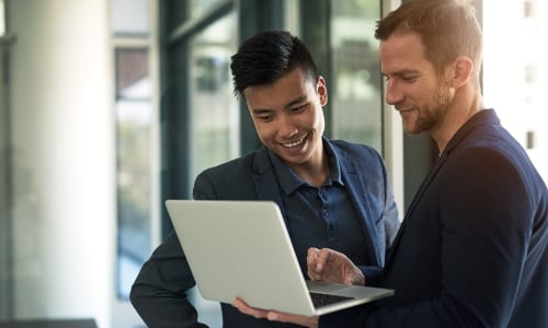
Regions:
[[[207,327],[186,296],[194,286],[189,263],[174,232],[145,262],[132,286],[130,302],[148,327]]]

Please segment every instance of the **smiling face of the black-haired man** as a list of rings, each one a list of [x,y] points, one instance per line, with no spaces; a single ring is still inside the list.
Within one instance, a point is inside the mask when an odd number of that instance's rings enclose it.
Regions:
[[[273,84],[243,91],[261,142],[289,166],[321,161],[328,92],[297,68]]]

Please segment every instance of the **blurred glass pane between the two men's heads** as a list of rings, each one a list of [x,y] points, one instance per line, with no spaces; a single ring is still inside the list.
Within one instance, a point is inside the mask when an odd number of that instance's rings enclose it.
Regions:
[[[332,1],[333,82],[330,101],[333,137],[369,144],[381,151],[381,91],[378,0]]]

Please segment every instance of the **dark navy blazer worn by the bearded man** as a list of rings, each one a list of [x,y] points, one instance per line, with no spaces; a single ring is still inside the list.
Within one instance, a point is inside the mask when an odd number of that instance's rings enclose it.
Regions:
[[[353,323],[341,313],[322,324],[546,328],[547,245],[546,184],[495,113],[482,110],[410,203],[379,281],[395,296]]]

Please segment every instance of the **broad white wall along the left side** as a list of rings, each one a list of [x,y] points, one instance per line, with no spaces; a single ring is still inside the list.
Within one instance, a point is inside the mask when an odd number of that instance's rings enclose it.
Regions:
[[[106,0],[10,1],[18,318],[109,327],[115,254]]]

